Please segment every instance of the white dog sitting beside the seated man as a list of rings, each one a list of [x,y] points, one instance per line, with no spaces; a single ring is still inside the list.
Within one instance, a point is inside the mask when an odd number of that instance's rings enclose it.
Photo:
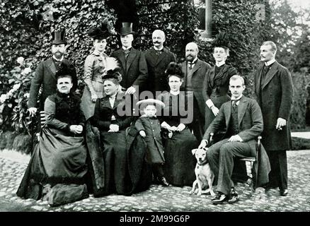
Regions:
[[[196,180],[193,182],[193,188],[190,194],[197,194],[197,196],[200,196],[201,194],[210,193],[212,196],[215,196],[212,187],[214,174],[207,162],[207,148],[193,149],[192,153],[197,159],[197,164],[195,167]],[[196,186],[198,186],[197,189]]]

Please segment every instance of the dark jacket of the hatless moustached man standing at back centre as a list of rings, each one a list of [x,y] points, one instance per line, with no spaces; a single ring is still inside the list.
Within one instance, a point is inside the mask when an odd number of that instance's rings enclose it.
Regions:
[[[147,69],[149,71],[149,83],[147,90],[168,91],[169,85],[166,78],[166,69],[170,62],[176,62],[176,56],[168,49],[163,48],[163,52],[157,57],[154,47],[145,52]]]

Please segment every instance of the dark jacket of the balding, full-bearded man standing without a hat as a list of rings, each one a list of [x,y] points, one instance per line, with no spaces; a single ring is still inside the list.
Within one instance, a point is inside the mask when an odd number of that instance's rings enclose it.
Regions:
[[[186,61],[182,63],[182,70],[186,75],[187,65]],[[195,66],[193,67],[191,73],[193,73],[192,76],[192,85],[194,90],[194,96],[197,100],[197,104],[199,107],[200,114],[205,119],[205,101],[202,96],[202,88],[203,88],[203,81],[205,81],[205,76],[207,72],[211,69],[211,66],[207,64],[205,61],[201,61],[200,59],[197,59],[197,62]],[[186,79],[186,78],[184,78]],[[180,90],[185,90],[185,81],[182,83]]]

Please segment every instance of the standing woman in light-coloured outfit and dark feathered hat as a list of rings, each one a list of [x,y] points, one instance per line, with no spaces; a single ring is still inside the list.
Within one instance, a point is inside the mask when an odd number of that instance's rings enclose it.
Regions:
[[[81,107],[86,120],[93,116],[96,100],[103,97],[102,76],[109,69],[117,67],[117,60],[105,54],[107,39],[110,36],[108,20],[104,20],[99,27],[91,28],[88,35],[93,38],[94,51],[88,55],[84,64],[85,88],[81,98]]]

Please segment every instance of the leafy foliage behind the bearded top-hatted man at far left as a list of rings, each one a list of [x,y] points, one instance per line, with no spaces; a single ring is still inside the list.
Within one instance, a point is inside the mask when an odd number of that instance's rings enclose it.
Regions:
[[[86,31],[104,18],[113,24],[115,17],[105,1],[99,0],[4,0],[0,11],[0,132],[25,132],[30,79],[38,63],[52,57],[52,32],[66,29],[66,57],[75,64],[81,78],[92,47]],[[18,57],[24,57],[25,64],[16,66]],[[30,72],[23,73],[25,68]],[[81,79],[79,82],[81,90],[84,84]]]

